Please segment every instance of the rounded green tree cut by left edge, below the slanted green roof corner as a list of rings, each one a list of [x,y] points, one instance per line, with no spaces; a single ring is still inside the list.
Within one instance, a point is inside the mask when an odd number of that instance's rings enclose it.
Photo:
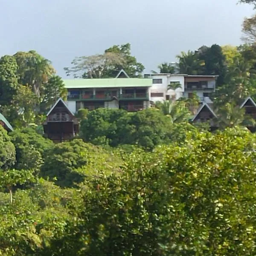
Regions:
[[[0,145],[0,169],[7,170],[16,162],[15,146],[2,125],[0,125]]]

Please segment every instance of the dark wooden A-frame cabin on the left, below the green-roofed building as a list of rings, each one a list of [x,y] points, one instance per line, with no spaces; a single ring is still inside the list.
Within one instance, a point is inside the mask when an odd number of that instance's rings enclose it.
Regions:
[[[47,113],[44,134],[55,143],[70,140],[79,132],[79,123],[63,99],[58,99]]]

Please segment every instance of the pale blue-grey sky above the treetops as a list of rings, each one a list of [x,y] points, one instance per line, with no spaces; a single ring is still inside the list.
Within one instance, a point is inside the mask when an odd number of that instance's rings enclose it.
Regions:
[[[57,74],[76,56],[131,44],[157,70],[181,51],[241,44],[241,23],[253,7],[236,0],[0,0],[0,56],[36,50]]]

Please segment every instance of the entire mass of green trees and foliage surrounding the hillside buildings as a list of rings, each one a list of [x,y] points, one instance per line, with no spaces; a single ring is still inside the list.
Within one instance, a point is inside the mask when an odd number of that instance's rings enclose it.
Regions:
[[[81,57],[73,64],[84,66],[67,71],[139,77],[130,47]],[[0,111],[15,126],[8,134],[0,125],[0,255],[256,255],[256,134],[246,128],[255,119],[240,108],[256,98],[256,45],[178,58],[160,72],[219,75],[210,96],[218,130],[191,122],[193,93],[136,113],[81,109],[80,134],[58,144],[35,129],[67,95],[50,61],[35,51],[0,58]]]

